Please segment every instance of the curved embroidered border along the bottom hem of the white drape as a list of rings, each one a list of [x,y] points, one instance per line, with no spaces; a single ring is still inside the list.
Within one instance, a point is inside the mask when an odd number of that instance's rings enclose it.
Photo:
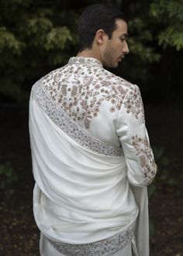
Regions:
[[[66,244],[50,239],[47,240],[50,241],[50,244],[52,244],[57,251],[70,256],[111,255],[123,249],[123,247],[133,239],[135,225],[136,223],[133,223],[127,230],[113,237],[91,244]]]

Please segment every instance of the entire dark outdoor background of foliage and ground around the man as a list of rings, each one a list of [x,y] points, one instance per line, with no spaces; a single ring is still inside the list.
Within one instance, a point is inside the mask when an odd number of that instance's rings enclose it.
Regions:
[[[0,1],[0,255],[39,255],[33,220],[29,92],[78,51],[81,11],[101,1]],[[150,255],[183,255],[183,0],[103,1],[129,19],[117,70],[139,85],[158,164],[149,187]],[[87,255],[86,255],[87,256]]]

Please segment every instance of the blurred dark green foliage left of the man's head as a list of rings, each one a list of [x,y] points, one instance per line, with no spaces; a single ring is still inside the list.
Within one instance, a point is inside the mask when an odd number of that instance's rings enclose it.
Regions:
[[[78,14],[52,3],[1,2],[0,92],[17,102],[27,102],[27,87],[65,64],[76,46]]]

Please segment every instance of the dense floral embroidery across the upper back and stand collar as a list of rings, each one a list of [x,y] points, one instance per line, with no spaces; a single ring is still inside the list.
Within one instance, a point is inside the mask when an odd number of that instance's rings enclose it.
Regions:
[[[132,87],[123,78],[105,71],[100,61],[85,57],[72,57],[65,67],[47,74],[43,86],[47,87],[50,97],[85,128],[98,116],[102,102],[109,102],[109,112],[119,110]]]

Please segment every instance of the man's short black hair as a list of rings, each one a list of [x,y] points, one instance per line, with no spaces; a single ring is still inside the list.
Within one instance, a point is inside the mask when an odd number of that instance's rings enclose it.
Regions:
[[[98,29],[103,29],[110,39],[112,32],[116,29],[116,19],[127,22],[123,12],[113,5],[89,5],[82,12],[78,22],[79,51],[91,49]]]

